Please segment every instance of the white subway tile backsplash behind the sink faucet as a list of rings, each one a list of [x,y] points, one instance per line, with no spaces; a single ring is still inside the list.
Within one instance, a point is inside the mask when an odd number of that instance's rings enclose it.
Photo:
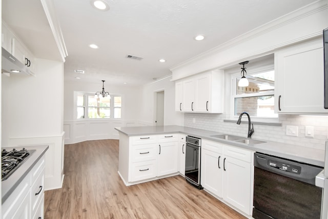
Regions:
[[[196,118],[196,123],[193,123]],[[223,122],[229,114],[185,113],[185,126],[247,137],[248,125]],[[237,122],[237,120],[236,120]],[[328,132],[328,116],[279,115],[279,126],[254,125],[252,137],[259,140],[324,150]],[[286,125],[298,126],[298,137],[286,135]],[[314,127],[314,137],[305,137],[305,126]]]

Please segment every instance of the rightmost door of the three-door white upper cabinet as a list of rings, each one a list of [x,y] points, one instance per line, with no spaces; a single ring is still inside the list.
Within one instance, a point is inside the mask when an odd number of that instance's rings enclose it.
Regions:
[[[197,112],[210,111],[211,74],[204,74],[196,78],[196,106]]]

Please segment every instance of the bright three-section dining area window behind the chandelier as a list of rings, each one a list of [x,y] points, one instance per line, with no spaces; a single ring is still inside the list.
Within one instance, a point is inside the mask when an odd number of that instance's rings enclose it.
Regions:
[[[95,98],[92,93],[76,93],[76,118],[121,118],[122,97]]]

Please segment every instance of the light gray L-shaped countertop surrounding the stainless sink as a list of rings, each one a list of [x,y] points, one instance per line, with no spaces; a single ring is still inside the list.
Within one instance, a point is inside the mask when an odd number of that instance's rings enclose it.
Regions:
[[[120,127],[115,129],[119,133],[128,136],[182,133],[194,137],[211,140],[218,143],[223,143],[223,144],[245,148],[256,152],[287,158],[301,163],[312,164],[320,167],[324,166],[324,150],[316,149],[316,148],[308,148],[308,147],[283,144],[278,142],[267,142],[267,143],[261,143],[254,146],[250,146],[244,143],[223,140],[221,138],[213,137],[213,135],[219,135],[224,133],[188,128],[183,126],[140,126],[140,127]],[[261,140],[261,141],[265,141],[265,140]]]

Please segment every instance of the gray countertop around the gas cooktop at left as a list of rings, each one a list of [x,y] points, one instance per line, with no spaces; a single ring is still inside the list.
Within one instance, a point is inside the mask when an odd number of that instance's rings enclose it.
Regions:
[[[26,150],[35,150],[32,154],[28,156],[26,161],[20,165],[8,178],[1,183],[1,195],[2,203],[4,203],[9,195],[15,190],[24,177],[31,171],[34,165],[40,160],[42,155],[46,153],[49,146],[48,145],[38,145],[38,146],[25,146],[25,147],[3,147],[7,151],[15,148],[20,150],[26,148]]]

